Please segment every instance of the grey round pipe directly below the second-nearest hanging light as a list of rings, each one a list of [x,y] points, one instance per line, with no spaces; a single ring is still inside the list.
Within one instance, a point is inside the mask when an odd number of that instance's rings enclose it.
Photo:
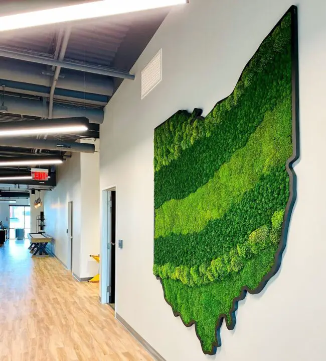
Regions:
[[[89,143],[65,142],[62,140],[44,140],[27,137],[0,138],[0,146],[17,148],[38,148],[63,152],[95,153],[95,145]],[[0,150],[1,152],[1,150]]]

